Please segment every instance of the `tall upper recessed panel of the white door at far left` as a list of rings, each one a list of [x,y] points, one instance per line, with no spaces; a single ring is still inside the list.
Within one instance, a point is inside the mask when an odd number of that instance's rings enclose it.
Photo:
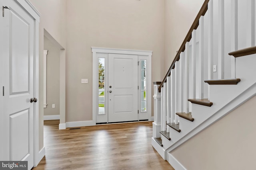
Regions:
[[[29,25],[25,18],[10,14],[10,93],[28,92]]]

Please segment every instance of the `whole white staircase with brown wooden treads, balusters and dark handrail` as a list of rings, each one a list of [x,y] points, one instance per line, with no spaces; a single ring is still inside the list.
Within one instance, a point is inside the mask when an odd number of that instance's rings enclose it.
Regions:
[[[175,169],[170,152],[256,95],[255,32],[254,0],[205,0],[154,82],[152,146]]]

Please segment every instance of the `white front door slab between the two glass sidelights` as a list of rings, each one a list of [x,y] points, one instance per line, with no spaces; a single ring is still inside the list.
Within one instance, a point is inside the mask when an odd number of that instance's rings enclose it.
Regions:
[[[108,122],[138,120],[138,55],[108,54]]]

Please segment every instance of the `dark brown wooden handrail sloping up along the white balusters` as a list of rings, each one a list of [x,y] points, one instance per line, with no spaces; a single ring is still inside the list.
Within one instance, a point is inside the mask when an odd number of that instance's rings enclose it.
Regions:
[[[158,88],[158,91],[161,92],[161,88],[164,86],[164,82],[166,82],[167,80],[167,77],[170,76],[170,73],[171,73],[171,70],[175,67],[175,62],[176,61],[179,61],[180,59],[180,53],[181,52],[184,52],[185,51],[185,45],[186,45],[186,42],[189,42],[190,39],[192,38],[192,32],[194,29],[197,29],[198,25],[199,25],[199,19],[201,16],[204,16],[204,14],[206,13],[206,11],[208,10],[208,2],[209,0],[205,0],[204,1],[204,4],[202,5],[200,11],[198,12],[197,16],[196,16],[196,19],[194,20],[194,22],[192,23],[192,26],[190,27],[182,45],[180,46],[180,49],[178,50],[174,60],[172,61],[172,64],[169,68],[169,70],[167,71],[165,77],[164,77],[164,80],[162,81],[162,83],[160,84],[159,88]]]

